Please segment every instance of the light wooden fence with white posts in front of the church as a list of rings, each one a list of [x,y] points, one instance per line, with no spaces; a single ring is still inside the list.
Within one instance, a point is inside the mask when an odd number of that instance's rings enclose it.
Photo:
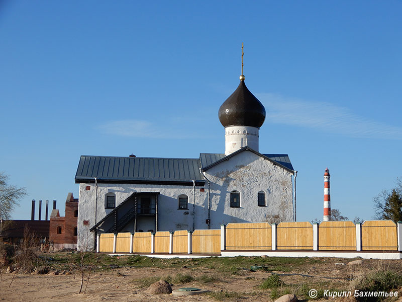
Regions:
[[[402,222],[390,220],[229,223],[220,230],[98,235],[99,252],[220,254],[221,251],[402,251]]]

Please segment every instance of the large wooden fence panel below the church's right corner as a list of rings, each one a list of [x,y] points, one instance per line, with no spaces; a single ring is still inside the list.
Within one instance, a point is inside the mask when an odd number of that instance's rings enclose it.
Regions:
[[[278,250],[313,250],[313,224],[280,222],[276,227]]]

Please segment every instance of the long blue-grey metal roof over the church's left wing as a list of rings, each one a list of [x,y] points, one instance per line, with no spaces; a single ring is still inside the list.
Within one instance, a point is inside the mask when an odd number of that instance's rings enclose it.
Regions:
[[[203,182],[199,159],[81,156],[75,182]]]

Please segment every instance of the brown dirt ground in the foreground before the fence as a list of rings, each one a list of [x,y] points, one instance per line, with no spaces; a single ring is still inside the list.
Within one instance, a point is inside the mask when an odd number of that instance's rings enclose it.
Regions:
[[[363,260],[362,265],[348,266],[350,259],[320,258],[317,264],[291,267],[290,276],[280,276],[285,284],[304,284],[349,288],[351,276],[366,274],[377,267],[392,267],[402,273],[402,260]],[[256,259],[256,263],[258,259]],[[343,265],[343,264],[345,265]],[[61,272],[62,273],[62,272]],[[173,284],[172,288],[198,287],[210,291],[236,292],[237,296],[226,297],[229,301],[272,301],[270,290],[258,286],[271,273],[251,272],[241,269],[236,274],[220,272],[207,267],[198,268],[157,268],[157,267],[121,267],[103,272],[93,272],[85,294],[78,294],[79,278],[75,275],[33,275],[3,274],[0,283],[0,299],[4,301],[216,301],[208,294],[193,296],[175,296],[172,294],[152,295],[146,293],[135,280],[151,276],[189,274],[196,278],[200,275],[214,275],[218,281],[192,281],[186,284]],[[283,272],[276,272],[282,274]],[[77,274],[77,273],[76,273]],[[291,275],[294,274],[294,275]],[[300,274],[300,275],[297,275]],[[302,276],[303,274],[304,276]],[[13,280],[14,278],[14,280]],[[11,284],[11,285],[10,285]],[[323,285],[324,284],[324,285]],[[400,294],[399,292],[399,300]],[[300,297],[299,297],[300,298]],[[303,299],[301,297],[300,299]]]

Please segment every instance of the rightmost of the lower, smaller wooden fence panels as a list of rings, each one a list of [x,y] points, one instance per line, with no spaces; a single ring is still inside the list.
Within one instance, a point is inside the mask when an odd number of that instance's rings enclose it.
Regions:
[[[194,254],[221,253],[221,230],[195,230],[191,236]]]

